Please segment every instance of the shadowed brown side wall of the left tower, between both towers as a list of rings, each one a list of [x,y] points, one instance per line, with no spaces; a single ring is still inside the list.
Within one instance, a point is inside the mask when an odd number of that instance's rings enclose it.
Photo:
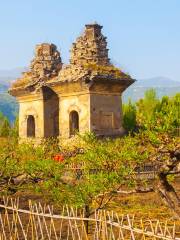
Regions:
[[[43,86],[44,137],[59,136],[59,97],[49,87]]]

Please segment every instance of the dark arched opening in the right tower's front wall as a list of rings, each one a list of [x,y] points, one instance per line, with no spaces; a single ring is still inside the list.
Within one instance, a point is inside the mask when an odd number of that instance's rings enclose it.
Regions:
[[[79,132],[79,114],[76,111],[70,112],[69,115],[69,130],[70,137],[74,136],[76,132]]]

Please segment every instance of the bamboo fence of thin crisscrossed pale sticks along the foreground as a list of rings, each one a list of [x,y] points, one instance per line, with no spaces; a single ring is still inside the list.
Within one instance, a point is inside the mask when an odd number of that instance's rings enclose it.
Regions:
[[[27,209],[21,209],[19,199],[3,198],[0,240],[180,240],[172,222],[136,220],[104,210],[85,216],[83,209],[64,206],[57,214],[53,206],[31,201]]]

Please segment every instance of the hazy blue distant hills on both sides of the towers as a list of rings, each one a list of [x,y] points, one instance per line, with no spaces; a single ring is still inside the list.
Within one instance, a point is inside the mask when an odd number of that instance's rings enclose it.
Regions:
[[[7,91],[12,81],[20,77],[26,68],[16,68],[12,70],[0,70],[0,111],[6,115],[11,122],[14,121],[18,112],[18,104],[14,97]],[[129,98],[137,101],[143,98],[144,92],[148,88],[155,88],[158,97],[164,95],[172,96],[180,92],[180,82],[173,81],[166,77],[154,77],[149,79],[140,79],[136,81],[123,93],[123,101],[127,102]]]

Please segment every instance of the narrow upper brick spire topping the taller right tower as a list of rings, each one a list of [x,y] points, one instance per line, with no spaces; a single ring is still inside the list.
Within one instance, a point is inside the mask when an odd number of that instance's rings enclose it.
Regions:
[[[110,65],[106,37],[97,23],[85,25],[82,36],[77,38],[71,49],[70,63],[74,65]]]

